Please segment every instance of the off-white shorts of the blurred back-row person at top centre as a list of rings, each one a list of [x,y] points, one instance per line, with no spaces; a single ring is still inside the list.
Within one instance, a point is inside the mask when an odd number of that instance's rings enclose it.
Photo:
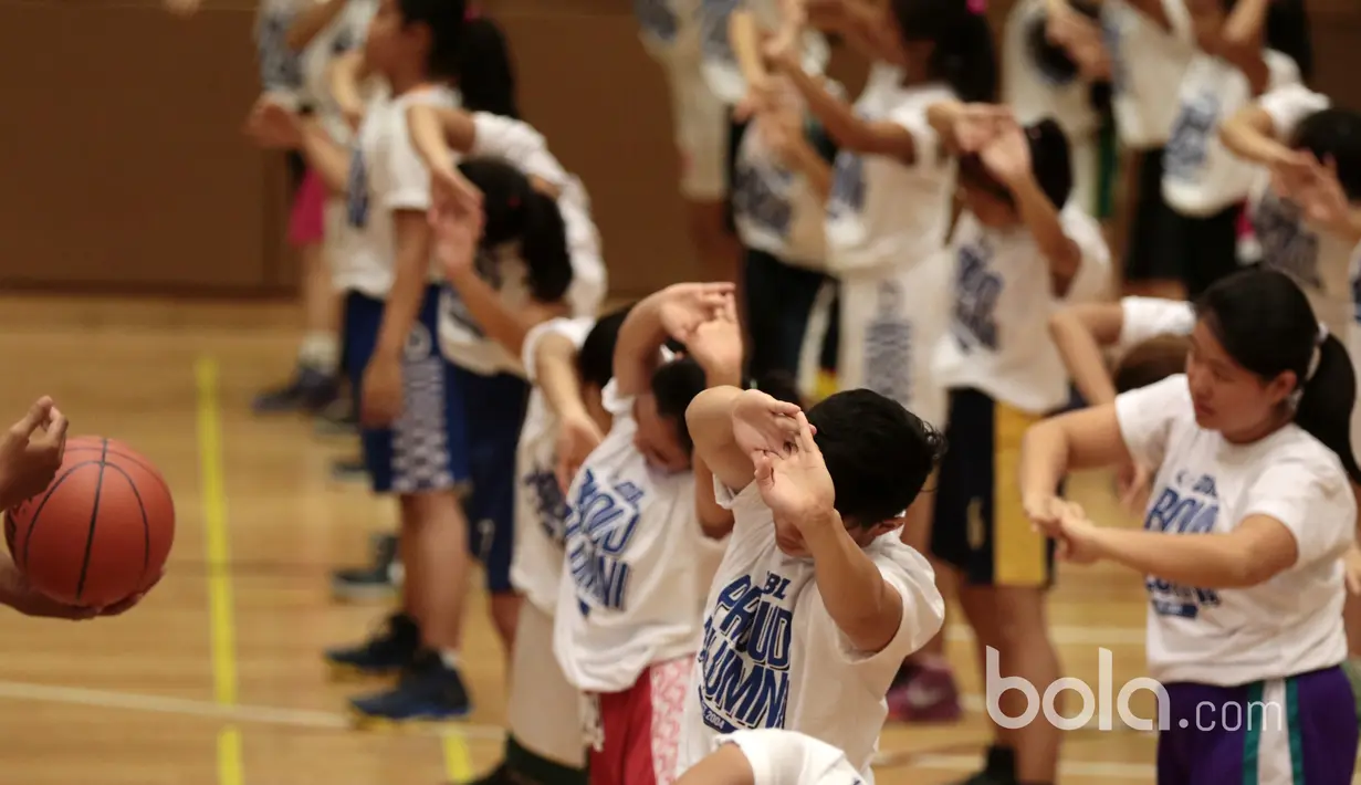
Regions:
[[[652,54],[671,90],[680,196],[719,201],[728,193],[728,107],[709,90],[698,46],[680,45]]]

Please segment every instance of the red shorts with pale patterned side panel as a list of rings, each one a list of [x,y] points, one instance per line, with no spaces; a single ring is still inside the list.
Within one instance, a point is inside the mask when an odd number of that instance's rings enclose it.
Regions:
[[[671,785],[676,780],[680,707],[694,656],[649,665],[623,692],[599,692],[604,743],[591,751],[591,785]]]

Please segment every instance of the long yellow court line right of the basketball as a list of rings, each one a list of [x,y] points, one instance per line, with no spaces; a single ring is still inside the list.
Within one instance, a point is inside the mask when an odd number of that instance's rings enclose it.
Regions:
[[[235,622],[231,615],[231,548],[227,537],[227,494],[222,469],[222,404],[218,363],[195,363],[199,431],[199,492],[203,497],[204,551],[208,559],[208,631],[212,639],[212,698],[237,702]],[[242,785],[241,731],[226,725],[218,732],[218,785]]]

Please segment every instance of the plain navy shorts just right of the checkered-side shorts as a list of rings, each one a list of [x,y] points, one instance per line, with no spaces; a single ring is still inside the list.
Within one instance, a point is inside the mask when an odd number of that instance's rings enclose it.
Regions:
[[[472,480],[472,492],[463,505],[468,551],[482,562],[489,592],[512,592],[516,452],[529,385],[513,374],[480,375],[456,367],[455,375],[467,412],[464,429]]]

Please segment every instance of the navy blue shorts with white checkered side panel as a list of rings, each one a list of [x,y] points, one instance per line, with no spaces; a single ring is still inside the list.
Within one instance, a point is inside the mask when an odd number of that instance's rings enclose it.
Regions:
[[[426,288],[401,355],[401,415],[391,427],[362,429],[363,463],[377,494],[453,490],[470,476],[464,401],[457,369],[440,354],[440,287]],[[384,302],[351,291],[344,309],[346,373],[362,405],[363,369],[382,327]]]

